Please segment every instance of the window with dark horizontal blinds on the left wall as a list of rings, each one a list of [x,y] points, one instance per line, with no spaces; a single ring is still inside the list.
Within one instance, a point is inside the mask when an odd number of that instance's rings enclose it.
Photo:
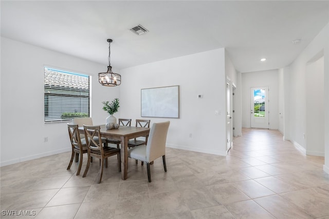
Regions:
[[[44,68],[45,122],[90,116],[88,75]]]

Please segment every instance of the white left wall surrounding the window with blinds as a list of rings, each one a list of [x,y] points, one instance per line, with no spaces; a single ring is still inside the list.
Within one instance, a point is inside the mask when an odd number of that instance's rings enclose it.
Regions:
[[[107,116],[101,102],[119,97],[118,87],[98,83],[97,73],[106,70],[106,63],[1,38],[1,166],[71,150],[66,123],[44,123],[44,66],[93,75],[94,124]]]

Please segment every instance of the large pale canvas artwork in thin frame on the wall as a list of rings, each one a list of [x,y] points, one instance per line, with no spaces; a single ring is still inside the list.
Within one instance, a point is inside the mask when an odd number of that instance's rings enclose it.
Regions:
[[[141,89],[141,116],[179,118],[179,85]]]

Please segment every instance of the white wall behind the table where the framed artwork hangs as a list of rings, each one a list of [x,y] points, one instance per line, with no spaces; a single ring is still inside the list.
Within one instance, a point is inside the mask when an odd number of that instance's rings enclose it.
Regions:
[[[120,116],[133,121],[141,118],[141,88],[179,85],[180,118],[150,118],[151,123],[171,121],[168,147],[226,155],[224,60],[221,48],[121,69]],[[215,110],[221,115],[215,115]]]

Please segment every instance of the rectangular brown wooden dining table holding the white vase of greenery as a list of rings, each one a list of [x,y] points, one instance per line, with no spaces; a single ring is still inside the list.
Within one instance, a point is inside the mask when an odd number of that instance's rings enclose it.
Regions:
[[[121,178],[127,179],[128,172],[128,141],[137,137],[148,137],[150,128],[120,126],[119,129],[106,130],[105,125],[100,125],[101,136],[121,141]],[[83,134],[83,127],[79,127],[79,133]]]

